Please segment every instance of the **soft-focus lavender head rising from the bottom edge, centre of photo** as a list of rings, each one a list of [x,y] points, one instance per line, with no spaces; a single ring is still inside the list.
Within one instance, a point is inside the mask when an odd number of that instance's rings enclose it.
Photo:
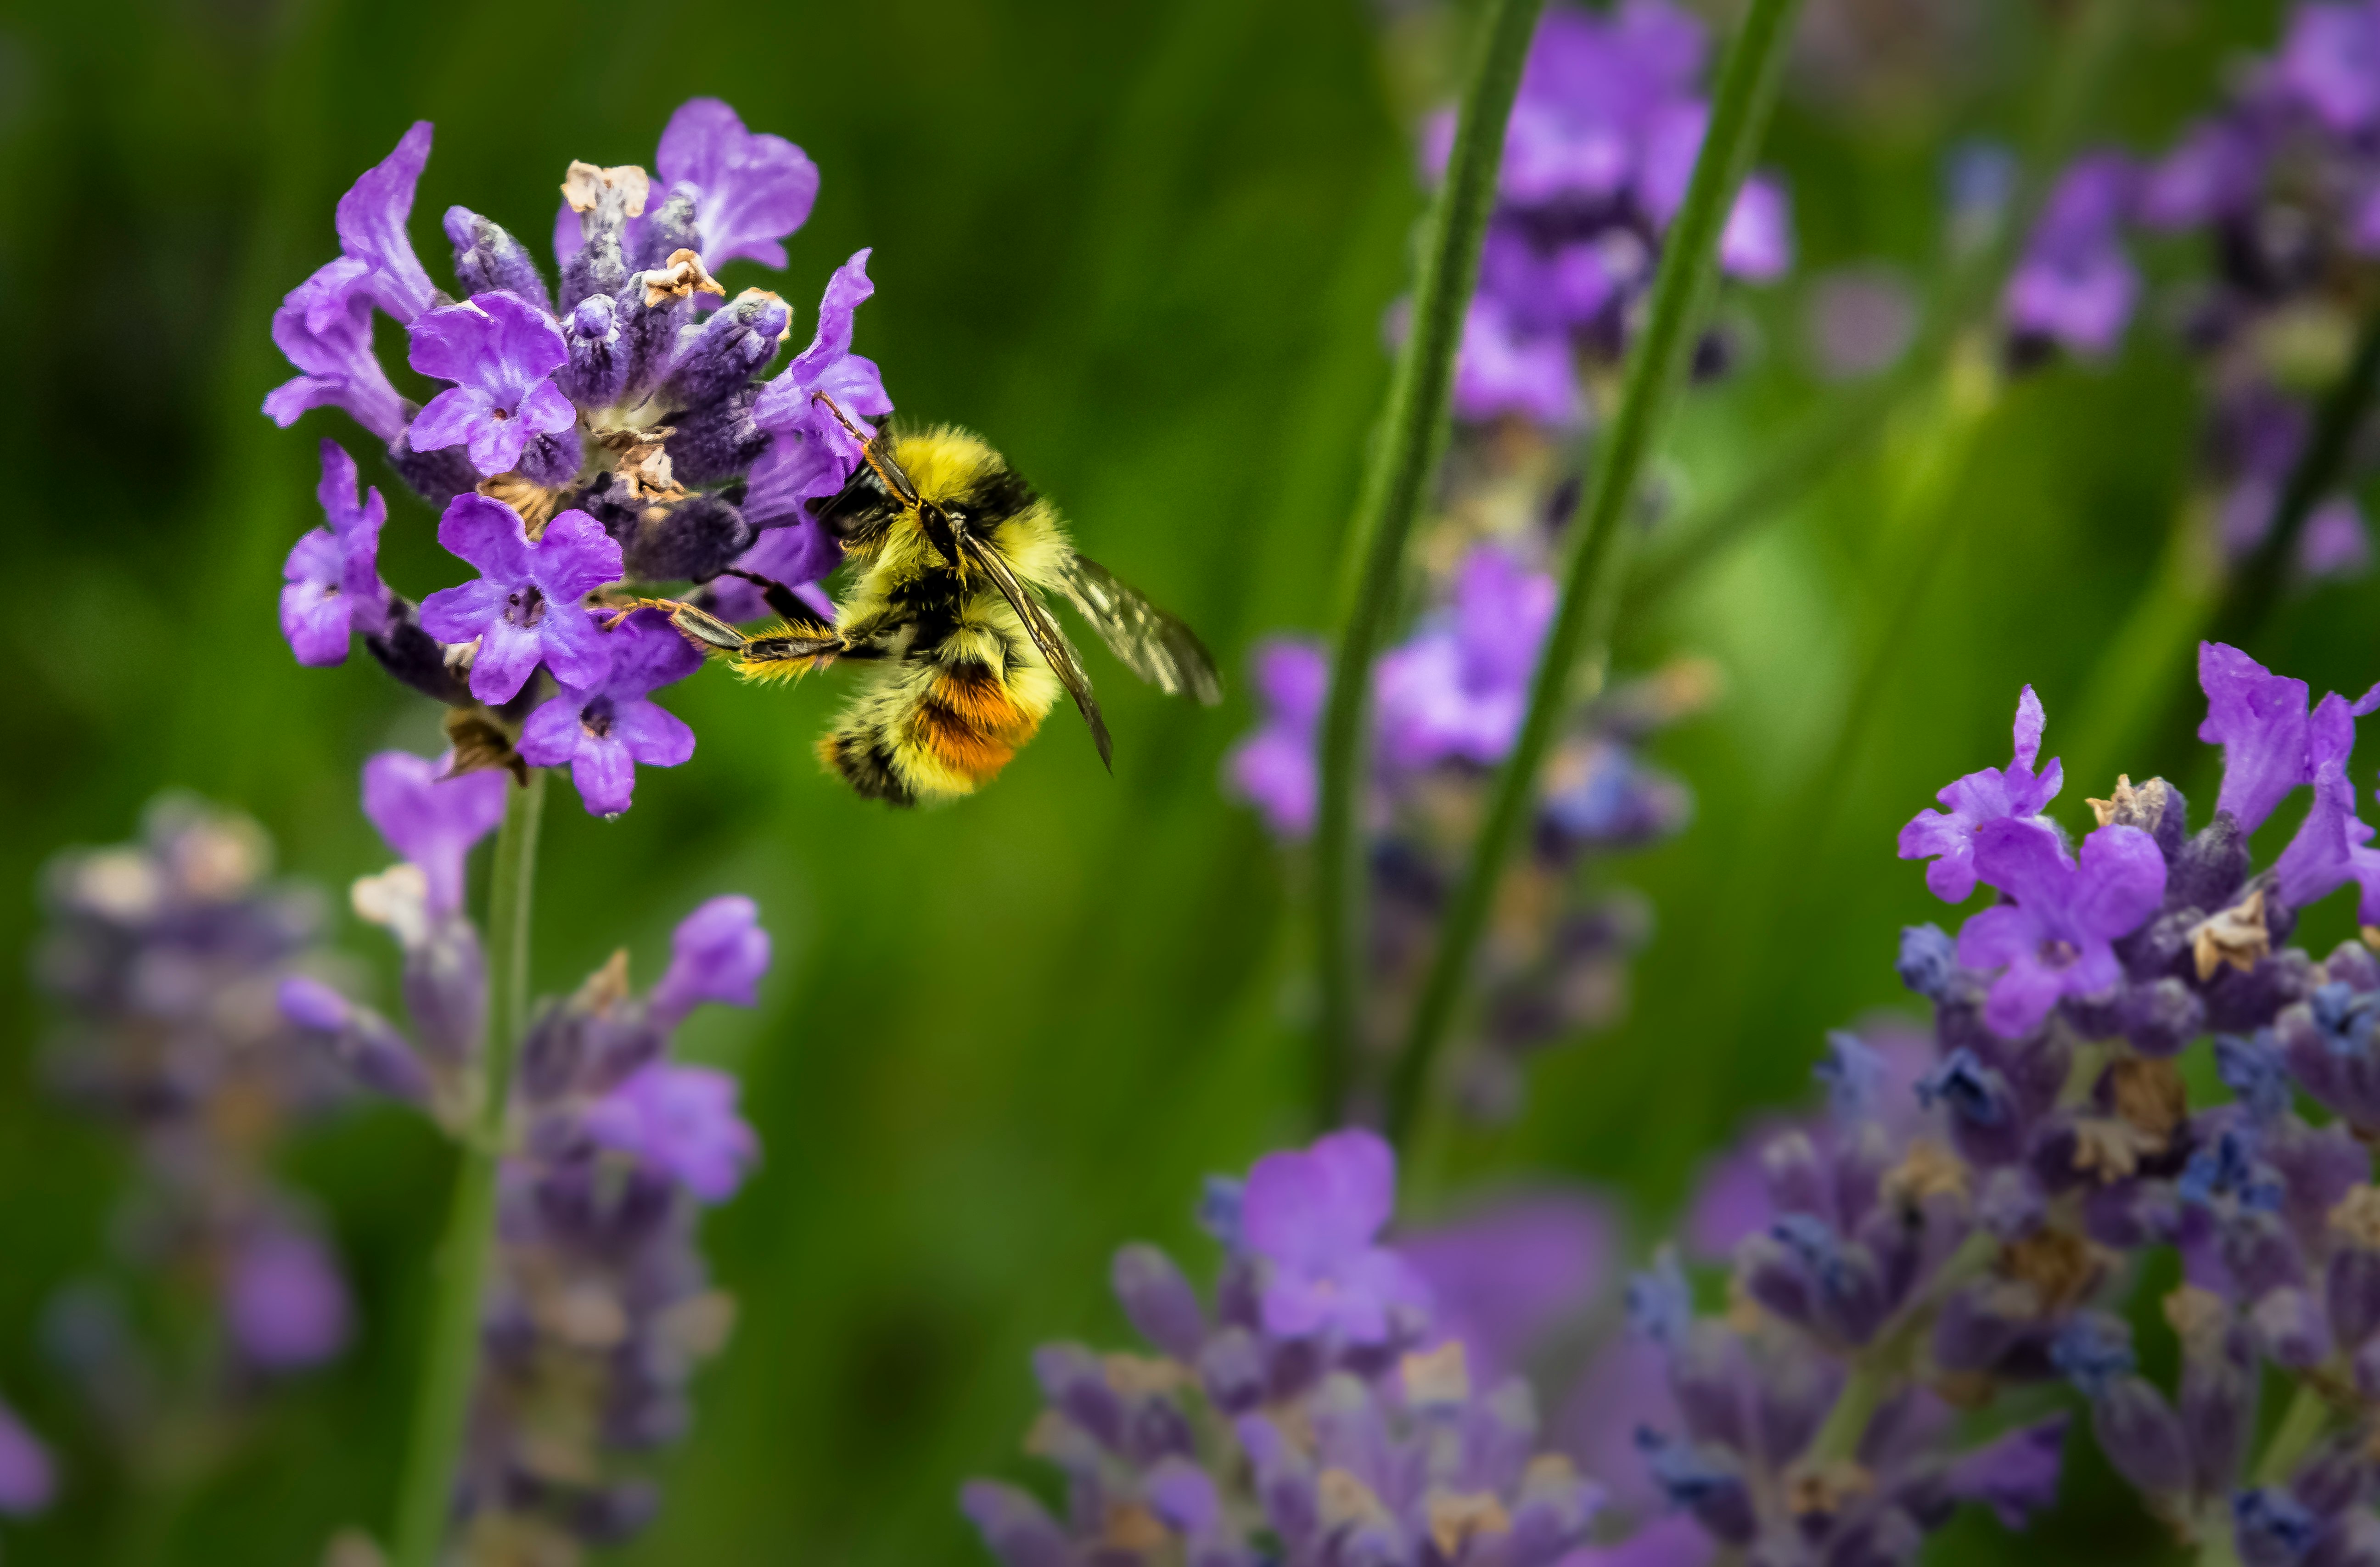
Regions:
[[[1114,1291],[1154,1353],[1035,1350],[1026,1448],[1064,1472],[1052,1517],[973,1481],[962,1507],[1007,1567],[1473,1562],[1554,1567],[1602,1496],[1540,1448],[1518,1376],[1473,1374],[1428,1286],[1380,1226],[1395,1155],[1368,1131],[1273,1153],[1216,1181],[1211,1305],[1154,1246]]]

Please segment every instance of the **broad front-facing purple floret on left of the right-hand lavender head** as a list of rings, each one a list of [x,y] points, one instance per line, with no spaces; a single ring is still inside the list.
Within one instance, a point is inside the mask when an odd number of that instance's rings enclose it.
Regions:
[[[2061,995],[2113,991],[2123,967],[2109,943],[2137,931],[2166,895],[2166,857],[2137,826],[2102,826],[2078,862],[2047,822],[1985,822],[1975,874],[2016,900],[1959,929],[1959,962],[2002,969],[1983,1010],[2002,1038],[2030,1034]]]

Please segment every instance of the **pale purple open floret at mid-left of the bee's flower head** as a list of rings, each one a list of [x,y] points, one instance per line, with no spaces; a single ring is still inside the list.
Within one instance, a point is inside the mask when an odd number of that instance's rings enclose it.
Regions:
[[[505,474],[519,467],[531,436],[578,424],[552,381],[569,357],[555,319],[516,295],[474,293],[431,310],[412,324],[409,362],[455,386],[431,398],[405,436],[416,452],[462,445],[481,474]]]

